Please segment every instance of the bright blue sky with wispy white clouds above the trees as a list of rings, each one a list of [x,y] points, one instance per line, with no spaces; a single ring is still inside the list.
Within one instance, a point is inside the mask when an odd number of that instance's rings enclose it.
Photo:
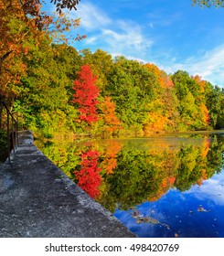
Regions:
[[[201,9],[191,0],[81,0],[70,15],[81,18],[74,33],[87,35],[73,45],[78,50],[101,48],[224,87],[224,8]]]

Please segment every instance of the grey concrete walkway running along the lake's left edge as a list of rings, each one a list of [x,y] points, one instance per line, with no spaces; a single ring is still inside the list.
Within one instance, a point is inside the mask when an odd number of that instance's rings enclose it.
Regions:
[[[135,237],[19,133],[12,164],[0,165],[0,237]]]

